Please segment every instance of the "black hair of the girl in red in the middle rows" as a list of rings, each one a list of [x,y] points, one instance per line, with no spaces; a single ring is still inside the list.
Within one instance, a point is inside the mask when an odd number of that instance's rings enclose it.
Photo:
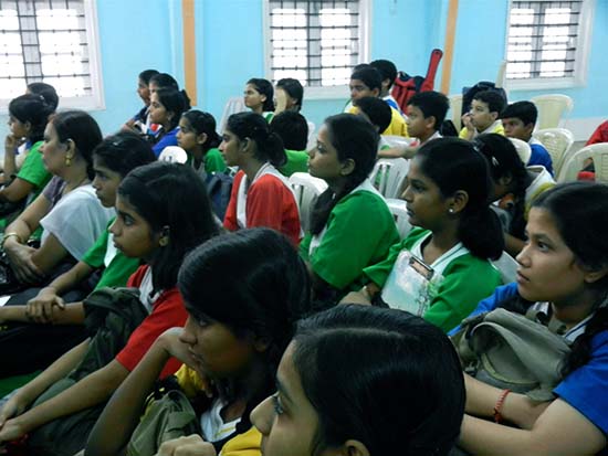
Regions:
[[[270,130],[268,121],[259,114],[247,112],[233,114],[228,118],[228,130],[239,140],[249,138],[255,141],[255,158],[270,161],[274,167],[282,167],[287,161],[281,137]]]

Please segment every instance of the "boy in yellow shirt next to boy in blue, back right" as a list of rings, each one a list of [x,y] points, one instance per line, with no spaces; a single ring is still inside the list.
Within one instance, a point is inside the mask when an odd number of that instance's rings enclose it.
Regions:
[[[471,103],[471,110],[462,116],[462,129],[459,137],[471,140],[478,135],[496,132],[504,135],[500,116],[506,100],[495,91],[478,92]]]

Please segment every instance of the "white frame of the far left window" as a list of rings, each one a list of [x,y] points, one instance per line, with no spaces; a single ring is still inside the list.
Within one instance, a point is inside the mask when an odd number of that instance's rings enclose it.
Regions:
[[[102,63],[99,52],[99,31],[97,20],[96,0],[83,0],[86,40],[88,45],[88,70],[91,77],[91,95],[86,96],[61,96],[59,109],[105,109],[104,84],[102,79]],[[25,93],[25,86],[23,87]],[[0,114],[8,114],[10,99],[0,98]]]

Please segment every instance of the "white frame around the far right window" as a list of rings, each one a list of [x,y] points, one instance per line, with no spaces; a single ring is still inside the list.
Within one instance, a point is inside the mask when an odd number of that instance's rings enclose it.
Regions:
[[[511,10],[513,1],[509,1],[507,22],[505,31],[504,59],[509,52],[509,32],[511,29]],[[546,0],[551,1],[551,0]],[[570,88],[583,86],[587,82],[588,62],[591,47],[591,32],[594,24],[595,0],[584,0],[580,7],[580,23],[578,30],[578,45],[575,52],[575,70],[572,77],[531,77],[509,79],[505,76],[505,85],[512,91]]]

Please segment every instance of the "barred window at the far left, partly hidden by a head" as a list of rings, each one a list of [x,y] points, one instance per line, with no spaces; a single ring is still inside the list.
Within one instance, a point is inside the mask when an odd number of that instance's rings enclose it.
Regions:
[[[0,106],[45,82],[61,107],[103,107],[94,7],[94,0],[0,0]]]

